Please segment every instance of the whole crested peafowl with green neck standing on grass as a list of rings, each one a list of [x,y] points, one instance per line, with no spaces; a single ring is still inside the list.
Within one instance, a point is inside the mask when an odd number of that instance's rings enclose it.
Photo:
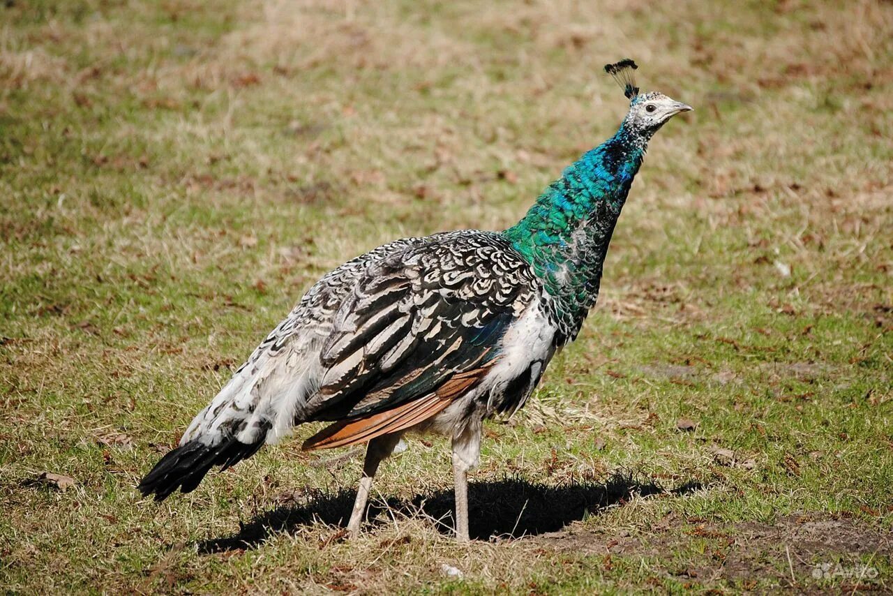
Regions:
[[[511,416],[596,304],[605,254],[649,139],[692,108],[639,94],[630,59],[605,71],[630,111],[505,231],[463,230],[374,248],[324,275],[248,357],[138,490],[193,491],[308,422],[303,449],[368,443],[355,535],[372,478],[406,432],[452,440],[455,533],[468,541],[468,472],[483,420]]]

